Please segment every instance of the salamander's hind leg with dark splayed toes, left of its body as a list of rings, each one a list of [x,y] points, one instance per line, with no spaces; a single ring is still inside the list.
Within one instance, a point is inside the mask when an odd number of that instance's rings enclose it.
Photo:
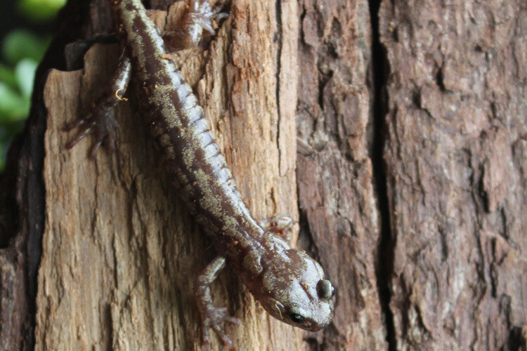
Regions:
[[[103,143],[108,145],[110,150],[115,151],[115,129],[118,125],[114,118],[114,108],[117,102],[123,100],[126,84],[130,80],[130,67],[129,58],[124,54],[121,55],[110,85],[93,102],[91,112],[86,117],[65,126],[66,131],[77,129],[77,133],[66,144],[68,149],[74,147],[86,135],[94,134],[96,142],[91,150],[91,157],[96,156],[98,148]]]

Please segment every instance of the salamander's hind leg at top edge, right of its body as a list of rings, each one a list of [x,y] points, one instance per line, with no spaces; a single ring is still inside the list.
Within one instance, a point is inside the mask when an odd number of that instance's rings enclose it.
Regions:
[[[221,7],[213,9],[207,0],[190,0],[188,13],[185,15],[181,28],[174,31],[162,32],[165,44],[171,50],[183,50],[192,48],[200,43],[203,30],[215,34],[214,23],[228,17],[227,13],[221,13]]]

